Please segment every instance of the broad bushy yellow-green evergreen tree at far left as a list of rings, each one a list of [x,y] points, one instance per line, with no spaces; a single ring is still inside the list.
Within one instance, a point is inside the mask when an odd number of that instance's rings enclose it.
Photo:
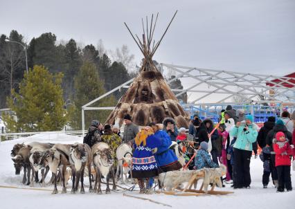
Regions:
[[[4,115],[10,131],[57,131],[66,123],[62,98],[62,73],[53,75],[44,66],[34,66],[21,81],[19,93],[12,91],[8,107],[17,121]]]

